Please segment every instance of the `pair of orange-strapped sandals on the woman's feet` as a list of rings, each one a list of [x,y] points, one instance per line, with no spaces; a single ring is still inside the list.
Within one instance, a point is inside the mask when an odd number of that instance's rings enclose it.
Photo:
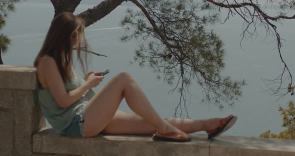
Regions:
[[[208,134],[208,139],[212,139],[216,136],[219,136],[222,134],[224,131],[229,129],[236,121],[237,117],[231,115],[229,119],[223,118],[220,119],[219,121],[219,126],[216,129],[208,130],[206,131]],[[170,138],[169,136],[176,136],[179,135],[177,138]],[[184,132],[167,132],[167,133],[161,133],[161,132],[156,132],[155,134],[152,135],[152,140],[156,141],[173,141],[173,142],[187,142],[191,141],[190,136],[186,136]]]

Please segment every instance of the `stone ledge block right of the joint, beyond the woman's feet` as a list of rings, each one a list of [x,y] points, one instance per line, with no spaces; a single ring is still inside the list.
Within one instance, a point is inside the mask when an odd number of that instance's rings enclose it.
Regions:
[[[295,155],[295,141],[243,136],[219,136],[210,144],[211,156]]]

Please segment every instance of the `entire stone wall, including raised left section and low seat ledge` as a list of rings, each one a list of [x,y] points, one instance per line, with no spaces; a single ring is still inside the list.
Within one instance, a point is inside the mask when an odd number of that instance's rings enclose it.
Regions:
[[[0,156],[47,155],[295,155],[295,141],[242,136],[191,134],[185,143],[152,141],[150,135],[98,135],[71,138],[42,128],[44,118],[33,102],[36,70],[0,65]]]

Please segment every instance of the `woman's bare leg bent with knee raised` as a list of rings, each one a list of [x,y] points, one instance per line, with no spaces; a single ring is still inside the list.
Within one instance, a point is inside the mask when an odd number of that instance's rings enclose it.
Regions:
[[[135,80],[122,72],[107,82],[86,105],[83,127],[86,137],[97,135],[109,124],[123,97],[128,106],[156,130],[180,131],[156,113]]]

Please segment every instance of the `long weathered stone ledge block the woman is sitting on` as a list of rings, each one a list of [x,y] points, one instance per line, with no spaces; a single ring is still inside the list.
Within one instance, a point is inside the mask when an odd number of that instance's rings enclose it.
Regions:
[[[210,140],[192,134],[191,142],[152,141],[150,135],[98,135],[92,138],[58,136],[53,129],[33,135],[33,151],[77,155],[208,155]]]

